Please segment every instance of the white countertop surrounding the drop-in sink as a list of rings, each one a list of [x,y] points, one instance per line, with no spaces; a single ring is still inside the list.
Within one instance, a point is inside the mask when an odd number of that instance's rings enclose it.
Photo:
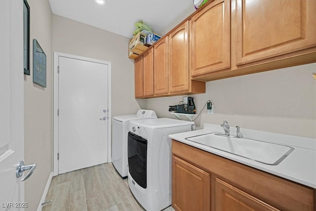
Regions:
[[[243,137],[279,143],[294,148],[281,163],[272,166],[185,139],[210,132],[223,133],[224,130],[217,125],[204,124],[204,129],[171,134],[169,137],[255,169],[260,169],[285,179],[316,188],[316,139],[240,128]],[[230,134],[235,135],[236,128],[231,127]]]

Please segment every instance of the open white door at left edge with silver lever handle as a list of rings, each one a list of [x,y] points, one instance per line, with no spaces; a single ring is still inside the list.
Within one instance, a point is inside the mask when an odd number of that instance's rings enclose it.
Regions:
[[[0,0],[0,210],[28,206],[15,175],[24,159],[22,15],[23,1]]]

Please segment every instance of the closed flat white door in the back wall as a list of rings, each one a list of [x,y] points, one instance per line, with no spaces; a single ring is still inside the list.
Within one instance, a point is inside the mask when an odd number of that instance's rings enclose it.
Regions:
[[[108,65],[59,56],[58,173],[108,162]]]

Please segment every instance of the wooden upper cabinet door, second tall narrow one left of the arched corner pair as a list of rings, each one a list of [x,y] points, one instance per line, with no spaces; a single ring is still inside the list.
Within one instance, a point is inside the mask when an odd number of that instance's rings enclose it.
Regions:
[[[169,91],[189,90],[189,21],[169,35]]]

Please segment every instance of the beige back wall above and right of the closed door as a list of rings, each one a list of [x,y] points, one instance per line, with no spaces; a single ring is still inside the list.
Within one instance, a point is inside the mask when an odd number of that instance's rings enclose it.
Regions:
[[[53,51],[112,63],[112,117],[135,114],[134,61],[128,58],[129,39],[58,15],[52,17]]]

